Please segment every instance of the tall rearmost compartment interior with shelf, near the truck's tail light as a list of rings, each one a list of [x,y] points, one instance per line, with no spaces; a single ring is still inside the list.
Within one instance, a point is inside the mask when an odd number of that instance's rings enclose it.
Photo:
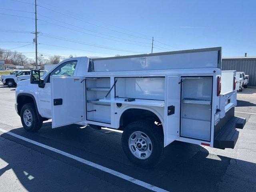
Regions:
[[[183,77],[180,136],[210,141],[212,77]]]

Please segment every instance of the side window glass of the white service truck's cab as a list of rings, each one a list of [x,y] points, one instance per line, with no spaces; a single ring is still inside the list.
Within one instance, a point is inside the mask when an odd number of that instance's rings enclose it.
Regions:
[[[62,63],[51,72],[51,76],[73,76],[76,69],[77,60]]]

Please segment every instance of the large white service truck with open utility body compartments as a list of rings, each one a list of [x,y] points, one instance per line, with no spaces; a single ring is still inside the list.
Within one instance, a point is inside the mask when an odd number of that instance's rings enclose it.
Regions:
[[[175,140],[234,148],[246,121],[234,116],[235,71],[220,68],[220,47],[69,58],[42,78],[32,70],[18,82],[15,108],[28,132],[47,119],[52,128],[122,129],[126,156],[152,167]]]

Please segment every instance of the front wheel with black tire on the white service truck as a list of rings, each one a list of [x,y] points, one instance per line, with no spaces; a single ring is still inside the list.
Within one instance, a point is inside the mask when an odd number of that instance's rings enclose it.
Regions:
[[[25,120],[26,117],[27,117],[27,120]],[[20,112],[20,119],[21,119],[23,128],[28,132],[35,132],[40,130],[43,124],[43,121],[39,120],[38,118],[38,115],[36,113],[36,108],[33,103],[27,103],[27,104],[24,104],[24,106],[22,106],[22,109]]]

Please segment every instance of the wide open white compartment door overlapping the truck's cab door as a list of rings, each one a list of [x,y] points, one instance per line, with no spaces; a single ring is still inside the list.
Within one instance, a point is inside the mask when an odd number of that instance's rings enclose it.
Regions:
[[[84,121],[82,77],[51,77],[52,128]],[[82,83],[81,83],[82,82]]]

